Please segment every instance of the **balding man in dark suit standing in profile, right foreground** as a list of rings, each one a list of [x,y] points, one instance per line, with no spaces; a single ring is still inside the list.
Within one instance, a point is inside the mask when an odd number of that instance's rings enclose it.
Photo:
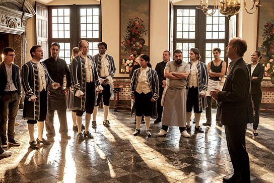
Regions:
[[[233,38],[226,47],[226,56],[232,61],[223,90],[211,91],[211,96],[222,102],[221,123],[225,126],[228,151],[234,168],[232,177],[224,182],[250,182],[249,157],[245,147],[246,124],[254,122],[250,74],[243,55],[246,41]]]

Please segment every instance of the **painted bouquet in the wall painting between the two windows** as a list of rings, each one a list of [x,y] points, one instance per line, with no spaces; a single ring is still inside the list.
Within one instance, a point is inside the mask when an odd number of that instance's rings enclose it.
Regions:
[[[126,27],[126,36],[124,36],[122,42],[124,52],[133,54],[134,56],[145,54],[148,51],[144,45],[146,42],[144,39],[146,31],[144,21],[141,18],[135,17],[134,19],[129,19]]]

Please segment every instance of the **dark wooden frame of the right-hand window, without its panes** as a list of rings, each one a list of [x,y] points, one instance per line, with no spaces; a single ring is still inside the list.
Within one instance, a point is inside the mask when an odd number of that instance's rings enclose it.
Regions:
[[[212,6],[209,8],[213,9]],[[218,7],[217,7],[218,8]],[[195,38],[185,39],[177,38],[177,10],[178,9],[195,9]],[[206,39],[207,15],[196,9],[196,6],[174,6],[174,31],[173,31],[173,49],[176,49],[177,43],[195,43],[195,47],[200,51],[200,61],[205,63],[205,44],[206,43],[224,43],[225,47],[229,40],[229,20],[225,17],[225,38],[224,39]],[[226,55],[226,51],[224,53]],[[224,61],[228,64],[228,58],[224,56]]]

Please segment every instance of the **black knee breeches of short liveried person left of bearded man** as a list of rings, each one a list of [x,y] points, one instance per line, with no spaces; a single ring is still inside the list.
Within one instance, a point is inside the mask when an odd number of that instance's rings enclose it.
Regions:
[[[138,92],[134,93],[136,116],[142,116],[143,114],[145,116],[151,116],[153,108],[153,103],[151,101],[152,96],[152,92],[147,94],[143,92],[141,94]]]

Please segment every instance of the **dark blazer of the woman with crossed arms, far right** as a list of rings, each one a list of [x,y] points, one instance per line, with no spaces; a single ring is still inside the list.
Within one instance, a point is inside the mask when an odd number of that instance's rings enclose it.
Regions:
[[[247,65],[250,74],[251,74],[251,65],[252,64]],[[252,76],[251,76],[251,78],[258,77],[255,80],[251,80],[251,94],[262,94],[261,82],[263,79],[263,75],[264,75],[264,67],[260,63],[258,63],[258,65],[254,69]]]

